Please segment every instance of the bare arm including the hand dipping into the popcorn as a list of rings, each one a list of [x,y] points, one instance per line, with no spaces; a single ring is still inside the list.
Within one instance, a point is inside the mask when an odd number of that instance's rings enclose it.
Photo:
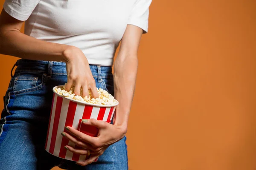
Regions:
[[[88,89],[93,97],[99,96],[95,80],[90,71],[89,63],[84,53],[74,46],[62,45],[38,40],[20,32],[23,21],[16,20],[2,11],[0,15],[0,54],[11,55],[23,59],[64,61],[67,65],[67,91],[75,84],[76,95],[88,96]],[[79,70],[83,69],[83,70]]]

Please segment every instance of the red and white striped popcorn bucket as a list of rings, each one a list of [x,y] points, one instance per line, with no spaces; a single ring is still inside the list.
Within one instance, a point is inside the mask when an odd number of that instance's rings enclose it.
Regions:
[[[97,119],[110,123],[115,112],[116,105],[96,105],[68,99],[55,92],[55,88],[63,86],[55,86],[53,90],[52,108],[49,118],[47,138],[45,150],[54,156],[71,161],[84,161],[90,156],[78,155],[66,150],[64,146],[70,145],[76,147],[73,142],[67,140],[61,135],[67,132],[64,127],[73,127],[87,135],[97,136],[98,128],[90,125],[84,125],[81,119]],[[97,161],[97,159],[95,160]]]

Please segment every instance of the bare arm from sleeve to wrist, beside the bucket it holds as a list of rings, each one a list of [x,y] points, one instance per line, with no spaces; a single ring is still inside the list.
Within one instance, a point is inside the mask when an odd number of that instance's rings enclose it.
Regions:
[[[121,126],[125,132],[134,96],[138,67],[137,51],[142,33],[142,29],[137,26],[127,26],[114,65],[114,91],[115,98],[119,101],[115,125]]]

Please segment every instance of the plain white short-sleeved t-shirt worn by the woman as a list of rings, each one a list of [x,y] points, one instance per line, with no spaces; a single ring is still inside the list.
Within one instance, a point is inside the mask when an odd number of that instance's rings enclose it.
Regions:
[[[111,66],[127,24],[148,31],[151,0],[6,0],[4,10],[26,20],[25,34],[80,48],[90,64]]]

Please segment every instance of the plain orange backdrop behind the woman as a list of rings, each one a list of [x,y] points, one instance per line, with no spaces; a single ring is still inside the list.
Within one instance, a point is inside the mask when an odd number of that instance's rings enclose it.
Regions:
[[[129,169],[255,170],[256,1],[153,0],[150,10]],[[3,96],[17,58],[0,57]]]

